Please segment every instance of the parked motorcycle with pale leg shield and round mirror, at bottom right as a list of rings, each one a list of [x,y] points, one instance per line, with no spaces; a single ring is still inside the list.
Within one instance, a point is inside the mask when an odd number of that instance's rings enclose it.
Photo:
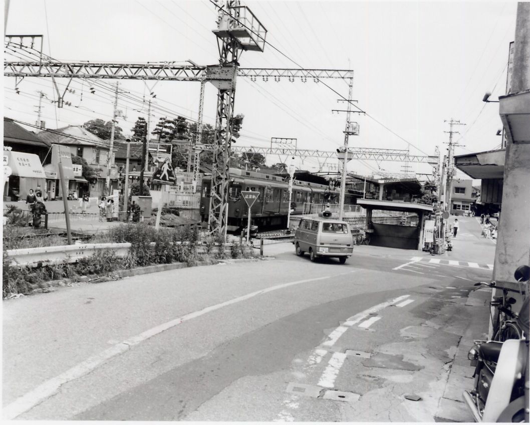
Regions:
[[[530,267],[522,265],[515,271],[518,282],[530,278]],[[464,391],[463,398],[475,422],[528,422],[529,365],[528,344],[530,310],[528,288],[517,326],[524,332],[522,339],[475,341],[467,358],[475,366],[474,389]]]

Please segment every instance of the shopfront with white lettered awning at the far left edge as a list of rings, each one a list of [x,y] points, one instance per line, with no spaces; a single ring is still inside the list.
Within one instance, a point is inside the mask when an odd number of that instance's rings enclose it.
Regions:
[[[25,200],[30,189],[45,190],[46,174],[37,155],[4,150],[5,155],[7,155],[7,165],[11,168],[7,196],[12,201]]]

